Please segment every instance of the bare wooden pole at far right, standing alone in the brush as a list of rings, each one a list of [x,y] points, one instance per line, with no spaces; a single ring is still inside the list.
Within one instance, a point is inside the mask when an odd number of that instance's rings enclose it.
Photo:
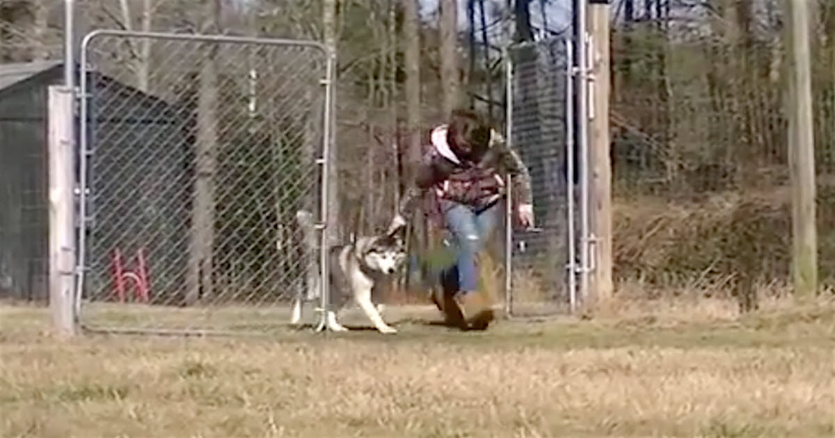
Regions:
[[[817,291],[815,142],[807,0],[785,0],[789,50],[788,157],[792,183],[792,277],[798,300]]]

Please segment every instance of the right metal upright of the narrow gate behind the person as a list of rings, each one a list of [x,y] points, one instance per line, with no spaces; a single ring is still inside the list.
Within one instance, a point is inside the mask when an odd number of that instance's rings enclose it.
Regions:
[[[569,309],[577,309],[577,262],[574,239],[574,51],[571,38],[565,39],[565,204],[568,210],[569,239]]]

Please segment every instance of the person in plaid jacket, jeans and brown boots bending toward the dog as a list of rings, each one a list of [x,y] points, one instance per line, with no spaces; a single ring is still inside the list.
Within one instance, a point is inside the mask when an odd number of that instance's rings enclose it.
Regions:
[[[477,113],[455,110],[448,124],[433,129],[432,147],[417,168],[414,184],[404,194],[392,231],[406,224],[417,201],[433,189],[443,223],[456,244],[458,287],[433,297],[448,323],[462,329],[484,330],[493,320],[493,304],[478,290],[478,252],[492,234],[504,198],[505,173],[514,174],[514,194],[522,226],[534,226],[530,176],[519,155],[504,143]],[[445,290],[447,288],[444,288]]]

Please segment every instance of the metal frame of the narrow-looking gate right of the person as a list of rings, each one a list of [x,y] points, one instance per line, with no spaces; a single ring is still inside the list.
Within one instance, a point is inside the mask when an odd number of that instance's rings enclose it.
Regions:
[[[567,249],[568,249],[568,263],[564,266],[564,269],[568,272],[568,289],[569,289],[569,313],[574,314],[577,310],[578,299],[582,300],[582,296],[578,296],[577,290],[577,274],[581,276],[587,274],[590,271],[590,267],[584,263],[584,259],[577,263],[576,259],[576,246],[577,242],[575,239],[579,239],[580,244],[582,246],[586,246],[585,242],[589,239],[586,235],[579,235],[575,236],[575,227],[574,227],[574,192],[575,186],[578,184],[574,184],[574,124],[579,123],[576,114],[576,105],[574,103],[574,81],[577,79],[579,73],[579,68],[574,65],[576,59],[574,58],[574,38],[572,36],[567,36],[563,39],[563,43],[565,45],[565,70],[564,70],[564,81],[565,81],[565,111],[564,111],[564,123],[565,123],[565,179],[566,179],[566,190],[565,190],[565,202],[566,202],[566,216],[568,219],[567,221],[567,229],[566,229],[566,236],[567,239]],[[554,38],[554,41],[557,41],[557,38]],[[542,43],[542,41],[533,41],[533,42],[524,42],[524,43],[512,43],[506,45],[503,48],[503,56],[504,56],[504,83],[505,83],[505,98],[507,104],[505,105],[505,141],[508,143],[508,146],[513,146],[513,138],[514,138],[514,92],[516,90],[515,83],[514,83],[514,58],[511,55],[511,52],[514,48],[524,47],[525,45],[535,45]],[[582,87],[580,87],[582,88]],[[579,96],[578,98],[582,98]],[[584,146],[580,145],[581,149]],[[582,152],[582,151],[581,151]],[[584,155],[581,154],[581,159],[584,158]],[[584,181],[588,179],[588,164],[584,161],[579,163],[579,172],[581,176],[581,181],[579,186],[582,188],[584,187]],[[508,181],[507,186],[507,198],[508,202],[505,203],[505,210],[504,210],[504,314],[508,319],[517,319],[517,318],[524,318],[524,316],[514,315],[513,309],[513,298],[514,298],[514,291],[513,291],[513,245],[514,245],[514,227],[513,227],[513,208],[512,203],[510,200],[512,199],[511,196],[513,195],[511,190],[510,184],[511,176],[508,174],[505,177],[505,180]],[[581,190],[580,193],[581,202],[580,202],[580,214],[581,216],[587,217],[588,216],[588,209],[589,203],[582,202],[582,199],[588,199],[587,190]],[[581,219],[582,222],[582,219]],[[582,224],[581,224],[582,225]],[[583,228],[583,227],[581,227]],[[584,230],[583,230],[584,231]],[[582,288],[581,288],[582,289]],[[581,294],[584,293],[584,290],[580,290]]]

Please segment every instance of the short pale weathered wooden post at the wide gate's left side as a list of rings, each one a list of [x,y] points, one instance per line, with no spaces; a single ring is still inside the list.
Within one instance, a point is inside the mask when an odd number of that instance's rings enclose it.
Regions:
[[[49,308],[60,335],[75,335],[73,89],[49,87]]]

